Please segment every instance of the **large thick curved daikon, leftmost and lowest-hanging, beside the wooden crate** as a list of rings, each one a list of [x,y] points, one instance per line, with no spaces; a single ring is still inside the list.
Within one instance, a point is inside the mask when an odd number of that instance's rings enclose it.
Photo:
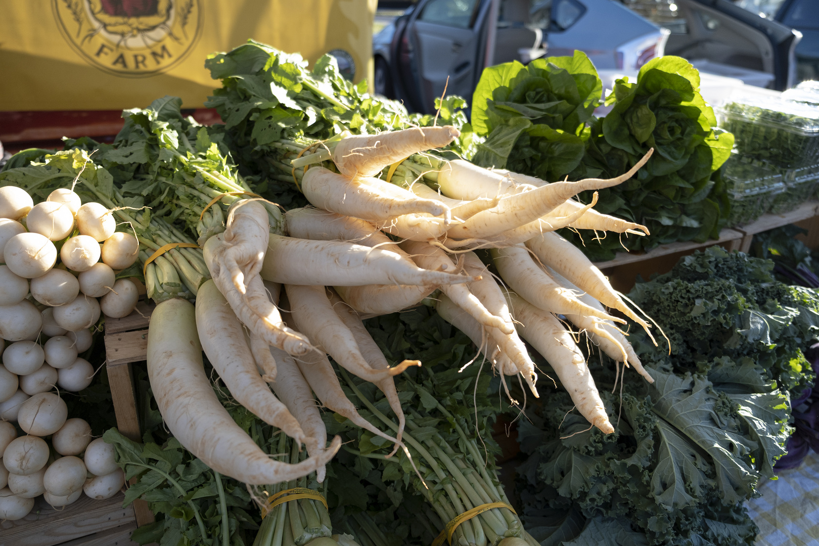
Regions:
[[[193,305],[172,299],[156,306],[147,349],[148,377],[160,413],[181,444],[216,472],[248,485],[296,480],[315,472],[341,446],[294,465],[269,458],[233,421],[210,386],[201,360]]]

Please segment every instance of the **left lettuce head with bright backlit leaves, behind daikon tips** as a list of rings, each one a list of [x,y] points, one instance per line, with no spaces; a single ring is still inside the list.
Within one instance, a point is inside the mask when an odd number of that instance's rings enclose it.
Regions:
[[[603,87],[583,52],[483,70],[472,123],[486,137],[473,162],[554,182],[580,165]]]

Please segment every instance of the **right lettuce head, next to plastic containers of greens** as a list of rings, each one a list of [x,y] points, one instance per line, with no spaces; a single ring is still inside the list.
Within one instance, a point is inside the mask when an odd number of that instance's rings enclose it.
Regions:
[[[649,250],[717,237],[729,212],[718,169],[730,156],[734,138],[713,129],[717,119],[699,94],[699,72],[680,57],[653,59],[640,69],[636,83],[618,79],[606,104],[613,109],[591,125],[586,154],[569,178],[613,178],[654,148],[635,178],[600,190],[595,205],[601,213],[649,228],[648,237],[627,237],[623,244]],[[581,201],[590,199],[590,192],[581,195]],[[600,240],[592,232],[563,232],[593,260],[613,259],[621,248],[618,237]]]

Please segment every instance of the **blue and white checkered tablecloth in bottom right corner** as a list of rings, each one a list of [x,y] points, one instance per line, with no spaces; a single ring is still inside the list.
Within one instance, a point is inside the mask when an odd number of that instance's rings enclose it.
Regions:
[[[811,451],[799,468],[778,475],[746,503],[759,526],[755,546],[819,546],[819,455]]]

